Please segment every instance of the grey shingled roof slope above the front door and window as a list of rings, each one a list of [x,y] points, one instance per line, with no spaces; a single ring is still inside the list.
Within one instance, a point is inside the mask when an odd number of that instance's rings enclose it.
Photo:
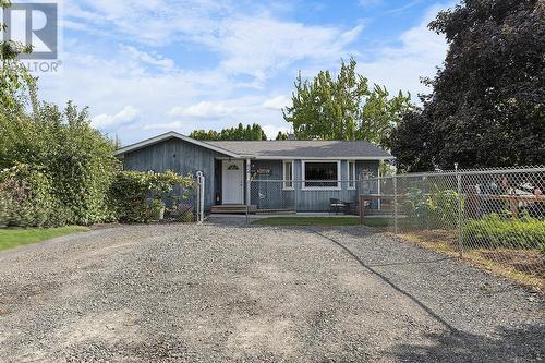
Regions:
[[[356,141],[207,141],[207,144],[257,158],[358,158],[393,157],[362,140]]]

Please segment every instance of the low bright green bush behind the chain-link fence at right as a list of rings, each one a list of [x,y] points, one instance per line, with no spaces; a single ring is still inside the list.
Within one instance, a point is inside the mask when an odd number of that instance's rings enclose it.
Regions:
[[[545,252],[545,221],[522,217],[505,219],[488,215],[469,221],[462,230],[463,243],[473,247],[540,249]]]

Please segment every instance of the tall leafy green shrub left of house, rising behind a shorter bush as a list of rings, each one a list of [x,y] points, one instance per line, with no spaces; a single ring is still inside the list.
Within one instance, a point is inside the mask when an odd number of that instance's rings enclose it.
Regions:
[[[119,161],[113,143],[90,126],[86,109],[44,104],[32,114],[0,113],[0,168],[43,168],[55,198],[72,210],[71,223],[114,219],[107,196]]]

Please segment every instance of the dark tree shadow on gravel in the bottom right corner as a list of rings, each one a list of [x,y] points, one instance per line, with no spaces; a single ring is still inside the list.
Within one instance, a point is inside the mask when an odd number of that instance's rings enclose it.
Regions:
[[[428,334],[431,344],[399,344],[390,352],[401,362],[542,362],[545,325],[502,329],[489,338],[457,331]]]

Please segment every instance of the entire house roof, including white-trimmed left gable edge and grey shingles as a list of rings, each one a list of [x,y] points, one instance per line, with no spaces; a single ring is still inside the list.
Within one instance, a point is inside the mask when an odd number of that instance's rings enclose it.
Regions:
[[[165,134],[128,145],[116,152],[117,156],[160,143],[179,138],[221,153],[232,158],[257,159],[360,159],[377,160],[393,157],[365,141],[198,141],[170,131]]]

